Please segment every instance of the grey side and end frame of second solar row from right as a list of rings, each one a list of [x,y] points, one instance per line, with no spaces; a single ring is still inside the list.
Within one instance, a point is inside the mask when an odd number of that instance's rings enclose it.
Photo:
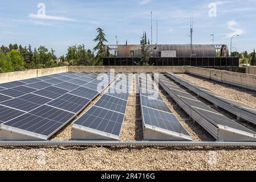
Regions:
[[[229,141],[229,142],[252,142],[256,141],[256,135],[247,133],[245,131],[233,129],[231,127],[222,126],[216,124],[216,126],[213,125],[213,123],[207,121],[204,116],[202,116],[200,113],[197,113],[196,110],[193,110],[191,107],[186,105],[180,98],[176,96],[172,92],[172,90],[168,89],[162,82],[160,81],[160,85],[164,90],[170,95],[170,97],[173,98],[174,101],[177,102],[177,104],[184,109],[184,111],[189,114],[190,117],[194,119],[194,121],[198,122],[208,133],[210,133],[216,140],[219,141]]]

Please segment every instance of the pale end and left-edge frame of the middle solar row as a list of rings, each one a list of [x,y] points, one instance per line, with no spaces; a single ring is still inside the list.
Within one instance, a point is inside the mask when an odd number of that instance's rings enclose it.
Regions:
[[[137,83],[139,83],[139,78],[137,80]],[[139,90],[141,90],[141,88]],[[139,91],[139,92],[140,92],[140,103],[142,103],[141,91]],[[174,131],[165,130],[165,129],[161,129],[160,127],[156,127],[156,126],[146,124],[145,119],[144,119],[144,114],[143,114],[144,112],[143,112],[143,105],[142,104],[140,104],[140,109],[141,109],[141,119],[142,119],[142,125],[143,125],[144,140],[192,141],[192,137],[189,136],[189,135],[176,133]]]

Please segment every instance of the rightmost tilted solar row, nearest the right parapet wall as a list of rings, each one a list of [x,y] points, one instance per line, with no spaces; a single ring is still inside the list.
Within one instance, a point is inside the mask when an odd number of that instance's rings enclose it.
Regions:
[[[178,82],[182,86],[185,86],[192,92],[196,93],[198,96],[205,98],[209,102],[212,102],[214,105],[221,107],[229,111],[230,113],[237,115],[237,117],[245,119],[251,123],[256,124],[256,109],[250,106],[244,105],[240,102],[230,100],[225,98],[220,94],[214,93],[211,90],[204,88],[202,86],[193,84],[192,82],[185,80],[182,77],[179,77],[173,73],[166,72],[166,76],[172,78],[172,80]]]

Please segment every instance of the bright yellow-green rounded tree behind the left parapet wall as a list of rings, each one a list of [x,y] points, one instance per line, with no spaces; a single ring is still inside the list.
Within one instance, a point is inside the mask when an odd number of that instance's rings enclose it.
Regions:
[[[22,71],[25,69],[24,58],[21,53],[15,49],[7,54],[7,60],[10,61],[13,71]]]

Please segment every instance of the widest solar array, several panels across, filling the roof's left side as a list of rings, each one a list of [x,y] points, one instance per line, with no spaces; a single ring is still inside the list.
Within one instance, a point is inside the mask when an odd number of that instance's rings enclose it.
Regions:
[[[71,121],[114,79],[110,73],[66,72],[0,84],[3,88],[0,91],[1,129],[17,133],[21,139],[46,140]],[[104,82],[105,87],[101,90],[86,88],[86,84],[97,80]],[[75,93],[81,89],[88,92],[77,96]],[[5,139],[3,135],[1,137]]]

